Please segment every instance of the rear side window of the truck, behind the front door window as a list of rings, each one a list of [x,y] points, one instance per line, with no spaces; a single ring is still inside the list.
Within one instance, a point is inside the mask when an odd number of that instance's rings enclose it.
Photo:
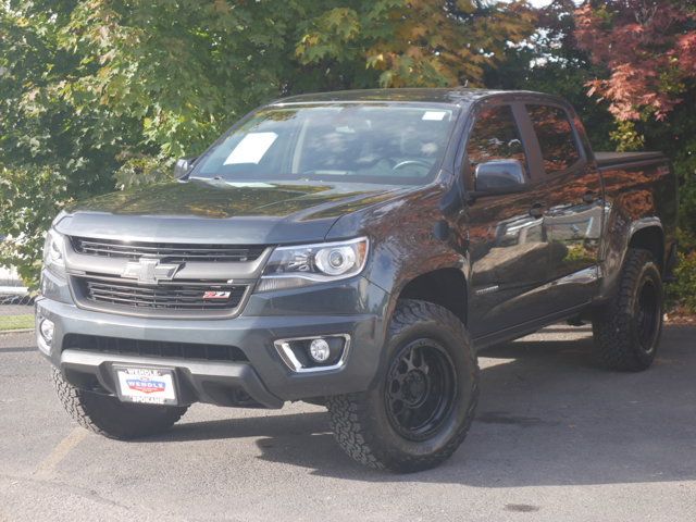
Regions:
[[[542,148],[546,174],[573,166],[580,153],[566,111],[552,105],[526,105],[526,110]]]

